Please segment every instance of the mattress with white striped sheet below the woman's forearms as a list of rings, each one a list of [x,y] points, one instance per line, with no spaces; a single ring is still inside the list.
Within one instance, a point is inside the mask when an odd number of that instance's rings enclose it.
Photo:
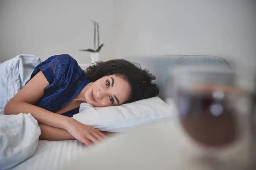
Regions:
[[[61,170],[87,150],[89,147],[78,140],[39,140],[35,154],[12,170]]]

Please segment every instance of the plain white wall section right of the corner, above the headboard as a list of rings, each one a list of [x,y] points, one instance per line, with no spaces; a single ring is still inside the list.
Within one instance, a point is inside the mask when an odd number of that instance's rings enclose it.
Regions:
[[[256,0],[115,0],[115,57],[215,55],[256,64]]]

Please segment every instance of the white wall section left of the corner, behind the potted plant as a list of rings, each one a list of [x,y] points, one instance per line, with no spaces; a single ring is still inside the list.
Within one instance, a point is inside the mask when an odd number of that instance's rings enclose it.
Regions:
[[[113,0],[0,0],[0,62],[17,54],[42,59],[70,54],[90,62],[93,24],[99,22],[102,59],[113,51]]]

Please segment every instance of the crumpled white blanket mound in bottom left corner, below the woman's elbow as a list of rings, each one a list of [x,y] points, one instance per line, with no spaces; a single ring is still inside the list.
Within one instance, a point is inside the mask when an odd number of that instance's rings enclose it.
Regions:
[[[41,130],[30,114],[0,114],[0,170],[14,167],[32,156]]]

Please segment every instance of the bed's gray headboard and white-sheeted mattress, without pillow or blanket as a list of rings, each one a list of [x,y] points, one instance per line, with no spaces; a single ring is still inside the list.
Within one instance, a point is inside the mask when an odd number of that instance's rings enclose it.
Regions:
[[[166,97],[163,92],[168,82],[168,69],[171,67],[176,65],[230,67],[226,60],[214,56],[131,56],[124,57],[124,59],[140,63],[142,68],[148,68],[157,77],[156,82],[161,89],[159,97],[162,99]],[[93,147],[86,147],[77,140],[39,140],[35,154],[13,167],[12,170],[61,170],[67,167],[71,159],[79,158],[81,154],[92,150],[94,147],[97,147],[97,144]]]

